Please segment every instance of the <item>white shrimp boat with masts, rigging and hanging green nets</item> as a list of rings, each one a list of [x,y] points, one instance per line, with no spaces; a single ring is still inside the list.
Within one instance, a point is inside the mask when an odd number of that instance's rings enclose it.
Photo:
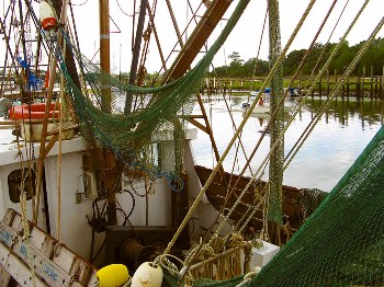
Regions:
[[[108,0],[100,1],[98,65],[80,53],[70,1],[4,2],[2,81],[8,77],[13,102],[10,106],[0,101],[4,115],[0,122],[0,286],[143,286],[149,280],[156,280],[151,286],[212,285],[215,280],[228,286],[250,282],[307,286],[315,280],[329,285],[329,278],[350,285],[384,284],[379,272],[383,229],[372,229],[374,237],[366,229],[348,233],[369,226],[365,214],[351,207],[361,191],[365,199],[377,203],[364,205],[375,215],[371,226],[384,221],[377,213],[384,202],[377,198],[377,186],[366,191],[364,184],[365,179],[379,183],[370,171],[384,170],[380,169],[381,135],[353,168],[360,177],[347,174],[326,199],[314,190],[282,185],[280,124],[284,120],[279,116],[284,108],[279,102],[284,95],[276,74],[287,48],[279,47],[279,4],[271,0],[270,45],[275,48],[261,89],[271,84],[271,177],[267,182],[257,173],[247,177],[225,172],[222,163],[233,144],[219,154],[199,90],[249,0],[238,1],[234,10],[233,1],[197,2],[202,16],[193,13],[196,22],[184,43],[187,28],[180,32],[171,1],[167,1],[180,46],[170,65],[160,45],[156,4],[142,0],[135,7],[137,26],[126,81],[111,74]],[[310,1],[306,12],[313,5]],[[195,62],[227,10],[226,26]],[[145,61],[151,37],[161,72],[148,80]],[[355,62],[351,65],[347,76]],[[9,95],[3,87],[2,99]],[[195,104],[200,115],[192,114]],[[256,103],[248,108],[244,123]],[[197,129],[212,140],[214,169],[194,162],[191,141]],[[240,133],[241,125],[233,142]],[[304,205],[307,198],[316,199]],[[346,218],[353,218],[354,229],[342,221]],[[336,239],[321,245],[331,237],[329,230]],[[279,251],[279,245],[284,248]],[[355,252],[361,245],[363,250]],[[332,261],[314,260],[320,257],[318,252]],[[346,260],[337,261],[332,254]]]

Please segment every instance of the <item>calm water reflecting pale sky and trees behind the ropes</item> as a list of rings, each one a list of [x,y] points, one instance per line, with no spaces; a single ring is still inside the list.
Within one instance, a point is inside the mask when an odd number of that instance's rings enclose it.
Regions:
[[[219,153],[226,149],[234,134],[234,126],[225,101],[222,95],[203,97],[206,113],[210,117],[216,145]],[[226,96],[231,110],[236,126],[242,120],[241,104],[247,96]],[[285,134],[285,154],[291,150],[305,127],[316,113],[316,110],[324,102],[321,99],[308,99],[300,114]],[[287,104],[293,103],[290,99]],[[195,106],[194,114],[200,112]],[[296,187],[319,188],[330,192],[354,160],[363,151],[383,123],[384,103],[381,101],[355,99],[349,101],[338,99],[334,101],[328,112],[323,115],[309,135],[304,146],[297,152],[284,173],[284,184]],[[250,154],[267,125],[266,115],[255,115],[247,122],[241,141],[246,153]],[[199,130],[197,139],[192,141],[196,164],[213,168],[215,164],[211,141],[205,133]],[[269,151],[270,137],[267,136],[252,160],[252,170],[256,171]],[[226,171],[239,173],[245,163],[241,149],[236,154],[233,148],[225,161]],[[236,159],[236,160],[235,160]],[[235,163],[234,163],[235,161]],[[248,171],[248,175],[249,175]],[[268,179],[268,168],[262,179]]]

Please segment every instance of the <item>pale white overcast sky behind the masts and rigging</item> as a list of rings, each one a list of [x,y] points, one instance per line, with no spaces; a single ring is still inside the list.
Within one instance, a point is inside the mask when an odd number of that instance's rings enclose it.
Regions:
[[[0,16],[3,18],[4,9],[8,8],[11,0],[3,0],[0,4]],[[77,33],[80,42],[80,49],[88,58],[93,58],[98,61],[99,54],[99,1],[98,0],[71,0],[74,4],[74,14],[76,20]],[[134,0],[110,0],[110,31],[111,31],[111,71],[118,73],[120,71],[128,71],[132,59],[132,27],[133,27],[133,5]],[[139,0],[136,0],[138,10]],[[158,32],[159,41],[161,43],[161,50],[165,57],[169,57],[170,66],[171,60],[176,57],[177,51],[180,50],[179,46],[176,46],[176,53],[171,53],[176,44],[176,33],[171,24],[170,16],[166,0],[157,0],[156,9],[156,30]],[[185,30],[187,22],[191,18],[191,11],[187,7],[187,1],[170,0],[172,9],[179,25],[179,30],[182,32]],[[334,0],[317,0],[312,9],[307,20],[304,23],[303,28],[297,34],[294,43],[290,47],[289,51],[294,49],[307,48],[313,41],[323,19],[329,10]],[[324,31],[320,33],[317,42],[325,44],[331,31],[334,30],[338,18],[342,9],[346,10],[340,19],[339,24],[336,26],[335,32],[330,38],[330,42],[336,43],[345,33],[355,13],[359,11],[365,0],[338,0],[335,9],[325,25]],[[149,1],[151,4],[153,1]],[[196,9],[201,3],[201,0],[190,0],[193,9]],[[233,0],[224,19],[217,25],[215,32],[208,39],[211,45],[217,37],[226,24],[226,19],[229,18],[231,11],[235,9],[238,0]],[[306,9],[309,0],[280,0],[280,22],[281,22],[281,38],[282,46],[284,47],[290,38],[294,27],[301,19],[304,10]],[[37,5],[37,3],[35,3]],[[216,54],[213,61],[214,67],[228,65],[230,60],[228,56],[237,51],[240,58],[248,60],[249,58],[257,57],[259,49],[260,37],[262,34],[262,23],[266,14],[267,1],[266,0],[250,0],[250,3],[236,25],[233,33],[224,44],[223,48]],[[37,10],[38,11],[38,10]],[[204,9],[197,11],[197,15],[201,16]],[[384,0],[371,0],[369,4],[352,28],[351,33],[347,37],[350,45],[354,45],[364,41],[372,33],[379,21],[384,16]],[[147,25],[145,25],[145,28]],[[187,30],[187,34],[190,34],[192,27]],[[384,30],[382,28],[379,36],[384,37]],[[0,42],[0,62],[2,66],[4,55],[4,42]],[[146,68],[148,72],[158,71],[161,68],[160,57],[158,56],[158,48],[156,41],[153,37],[149,45],[149,54],[146,61]],[[197,58],[203,55],[201,53]],[[260,46],[260,59],[268,59],[268,25],[266,26],[263,41]],[[197,59],[196,59],[197,60]]]

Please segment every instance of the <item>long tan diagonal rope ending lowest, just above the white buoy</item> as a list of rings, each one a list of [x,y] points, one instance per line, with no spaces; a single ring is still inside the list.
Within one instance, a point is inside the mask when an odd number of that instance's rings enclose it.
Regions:
[[[238,3],[238,8],[240,7],[240,4],[244,4],[244,2],[247,2],[246,4],[248,4],[248,1],[246,0],[242,0],[242,1],[239,1]],[[303,25],[305,19],[307,18],[310,9],[313,8],[313,5],[315,4],[316,0],[312,0],[308,5],[307,5],[307,9],[305,10],[304,14],[302,15],[302,19],[300,20],[300,22],[297,23],[297,26],[295,27],[294,32],[292,33],[286,46],[284,47],[283,51],[281,53],[281,55],[279,56],[276,62],[274,64],[274,66],[272,67],[271,71],[269,72],[266,81],[263,82],[261,89],[260,89],[260,92],[258,94],[258,99],[260,97],[262,91],[267,88],[267,83],[270,82],[270,80],[272,79],[272,76],[274,74],[274,72],[278,70],[278,68],[280,67],[280,65],[282,64],[282,61],[284,60],[284,57],[285,57],[285,54],[286,51],[289,50],[292,42],[294,41],[295,36],[297,35],[301,26]],[[236,8],[236,9],[238,9]],[[168,246],[165,251],[165,253],[169,253],[170,249],[173,246],[176,240],[179,238],[181,231],[183,230],[183,228],[185,227],[185,225],[188,223],[188,221],[190,220],[190,218],[192,217],[192,214],[193,211],[195,210],[195,208],[197,207],[199,203],[200,203],[200,199],[203,197],[203,195],[205,194],[207,187],[210,186],[211,182],[213,181],[215,174],[217,173],[217,171],[219,170],[221,165],[223,164],[226,156],[228,154],[231,146],[234,145],[236,138],[239,136],[239,134],[242,131],[242,128],[246,124],[246,122],[248,120],[248,118],[250,117],[251,115],[251,112],[253,111],[255,106],[257,104],[257,101],[255,101],[250,108],[248,110],[248,112],[246,113],[241,124],[239,125],[237,131],[235,133],[235,135],[233,136],[230,142],[228,144],[226,150],[224,151],[222,158],[219,159],[219,161],[217,162],[215,169],[212,171],[212,174],[210,175],[208,180],[206,181],[205,185],[202,187],[201,192],[197,194],[195,200],[193,202],[190,210],[188,211],[184,220],[181,222],[179,229],[176,231],[172,240],[168,243]],[[221,228],[223,227],[224,222],[221,223]]]

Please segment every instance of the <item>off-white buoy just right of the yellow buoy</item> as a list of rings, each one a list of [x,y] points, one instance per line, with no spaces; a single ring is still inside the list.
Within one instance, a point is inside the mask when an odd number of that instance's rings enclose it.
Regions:
[[[162,269],[153,262],[143,263],[132,277],[132,287],[160,287],[162,284]]]

